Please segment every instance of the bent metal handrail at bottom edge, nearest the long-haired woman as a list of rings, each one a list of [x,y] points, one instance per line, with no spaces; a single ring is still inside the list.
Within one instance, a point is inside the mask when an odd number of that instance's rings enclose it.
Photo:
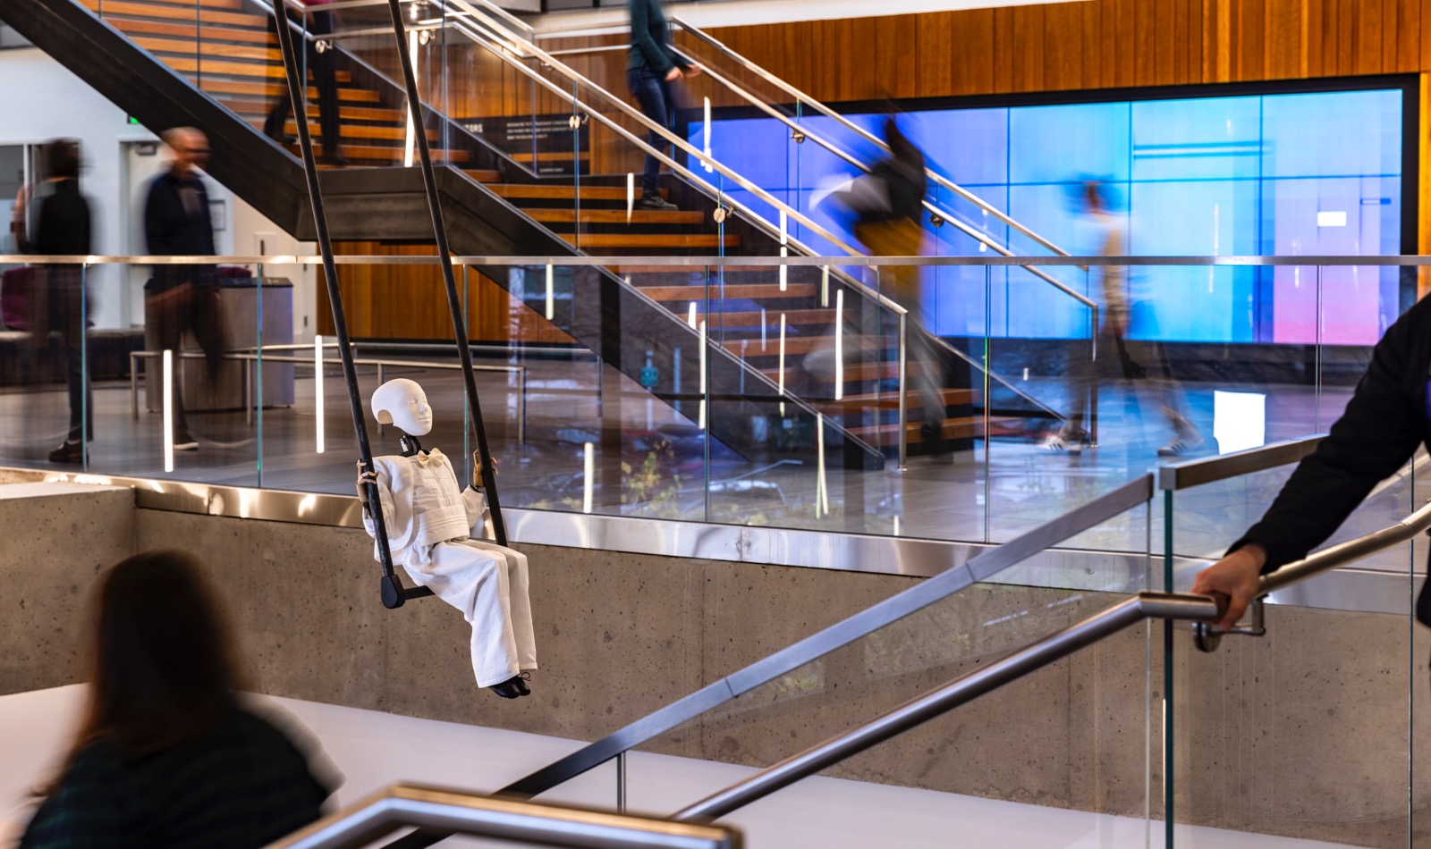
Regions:
[[[269,843],[268,849],[353,849],[406,826],[537,846],[740,849],[743,845],[740,832],[728,826],[494,799],[404,783],[331,813]]]

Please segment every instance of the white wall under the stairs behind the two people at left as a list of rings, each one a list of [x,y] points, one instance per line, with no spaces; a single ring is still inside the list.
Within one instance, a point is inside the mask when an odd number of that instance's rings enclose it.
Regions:
[[[80,140],[84,156],[82,186],[94,204],[94,252],[100,254],[143,253],[137,210],[129,200],[132,177],[126,143],[152,142],[155,134],[127,123],[119,109],[83,80],[39,49],[0,50],[0,144],[40,144],[59,136]],[[163,156],[163,154],[160,154]],[[157,160],[155,160],[157,164]],[[223,186],[209,182],[215,199],[223,199],[228,227],[216,233],[219,253],[250,254],[258,249],[255,233],[276,233],[270,253],[316,253],[312,243],[299,243],[233,197]],[[135,224],[135,226],[132,226]],[[312,339],[316,276],[312,269],[272,266],[266,276],[288,277],[295,284],[293,327],[299,339]],[[145,273],[97,267],[90,276],[97,327],[127,327],[143,322],[143,296],[137,287]]]

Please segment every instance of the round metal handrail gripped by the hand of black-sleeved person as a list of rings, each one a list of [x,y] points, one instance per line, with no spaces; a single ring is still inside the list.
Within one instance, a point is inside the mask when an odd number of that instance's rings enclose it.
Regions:
[[[1415,513],[1390,527],[1331,546],[1302,560],[1288,563],[1276,572],[1264,575],[1258,582],[1258,599],[1308,577],[1384,552],[1427,529],[1431,529],[1431,503],[1427,503]],[[671,819],[684,822],[724,816],[731,810],[768,796],[781,788],[864,752],[870,746],[897,736],[923,722],[942,716],[960,705],[966,705],[979,696],[990,693],[1006,683],[1042,669],[1143,619],[1191,620],[1199,632],[1199,647],[1211,650],[1211,647],[1202,645],[1205,637],[1201,635],[1208,632],[1216,635],[1218,632],[1212,627],[1212,623],[1218,622],[1226,613],[1226,609],[1228,599],[1222,595],[1138,593],[1070,627],[1049,635],[990,666],[962,675],[937,690],[906,702],[903,706],[851,732],[839,735],[819,746],[787,758],[740,783],[680,810]],[[1213,642],[1212,647],[1215,646],[1216,643]]]

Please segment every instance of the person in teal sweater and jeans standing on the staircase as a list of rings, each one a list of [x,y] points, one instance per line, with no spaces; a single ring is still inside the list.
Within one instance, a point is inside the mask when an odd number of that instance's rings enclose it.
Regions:
[[[678,57],[667,43],[665,14],[658,0],[631,0],[631,59],[627,60],[627,84],[641,104],[641,111],[663,127],[671,126],[675,100],[671,83],[701,73],[698,64]],[[651,131],[651,147],[670,150],[661,134]],[[641,200],[637,209],[675,209],[660,193],[661,160],[647,154],[641,174]]]

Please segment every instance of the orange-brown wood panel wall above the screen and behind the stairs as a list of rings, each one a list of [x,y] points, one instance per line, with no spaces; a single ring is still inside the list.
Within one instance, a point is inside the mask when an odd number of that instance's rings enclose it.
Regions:
[[[1082,0],[726,27],[711,34],[830,103],[1420,73],[1420,252],[1431,253],[1431,0]],[[541,44],[560,51],[624,40],[600,36]],[[562,56],[561,61],[628,96],[624,51]],[[454,114],[531,114],[532,84],[485,51],[449,47],[448,69],[446,86],[434,99]],[[776,97],[751,74],[737,80]],[[570,109],[561,97],[535,91],[538,113]],[[685,104],[705,96],[717,106],[743,104],[701,77],[680,94]],[[634,129],[628,120],[621,123]],[[640,154],[607,130],[592,130],[591,147],[597,172],[640,167]],[[355,253],[375,249],[351,247]],[[389,249],[376,252],[382,250]],[[394,269],[372,282],[346,277],[355,336],[451,337],[436,269]],[[346,287],[353,287],[352,294]],[[1424,273],[1422,292],[1428,287],[1431,277]],[[511,333],[542,342],[565,339],[495,283],[484,279],[471,292],[475,339],[499,340]],[[435,306],[418,306],[419,300]],[[369,322],[382,316],[391,329],[379,332],[378,324],[355,320],[362,314]]]

